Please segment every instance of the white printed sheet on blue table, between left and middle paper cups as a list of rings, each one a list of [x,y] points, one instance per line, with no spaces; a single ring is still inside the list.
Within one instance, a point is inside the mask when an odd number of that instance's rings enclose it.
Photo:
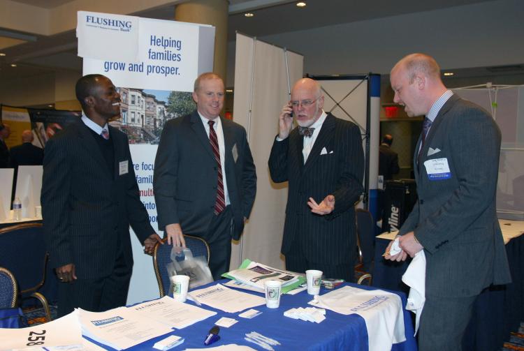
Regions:
[[[220,284],[193,290],[191,295],[201,304],[229,313],[240,312],[247,308],[265,304],[263,297],[229,289]]]

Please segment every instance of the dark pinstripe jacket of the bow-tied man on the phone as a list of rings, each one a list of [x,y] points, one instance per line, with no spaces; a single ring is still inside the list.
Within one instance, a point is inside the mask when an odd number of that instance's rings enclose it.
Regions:
[[[323,148],[327,154],[321,155]],[[303,137],[295,128],[286,140],[273,143],[269,158],[271,179],[289,181],[282,253],[297,240],[311,262],[354,262],[356,226],[354,204],[363,192],[364,153],[358,126],[328,114],[303,162]],[[309,197],[320,202],[335,195],[335,210],[312,214]]]

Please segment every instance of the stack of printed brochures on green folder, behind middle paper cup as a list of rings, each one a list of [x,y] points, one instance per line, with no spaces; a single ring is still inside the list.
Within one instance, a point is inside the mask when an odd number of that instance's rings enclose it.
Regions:
[[[306,281],[306,278],[299,274],[272,268],[251,260],[244,260],[238,269],[229,271],[222,276],[261,290],[264,288],[265,281],[280,281],[282,282],[282,293],[284,294],[296,289]]]

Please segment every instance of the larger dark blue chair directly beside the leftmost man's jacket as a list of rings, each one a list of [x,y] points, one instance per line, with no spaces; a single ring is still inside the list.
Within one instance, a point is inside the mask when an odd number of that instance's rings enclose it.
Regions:
[[[42,223],[23,223],[0,229],[0,266],[15,276],[19,301],[38,299],[50,321],[48,300],[40,292],[45,283],[47,264]]]

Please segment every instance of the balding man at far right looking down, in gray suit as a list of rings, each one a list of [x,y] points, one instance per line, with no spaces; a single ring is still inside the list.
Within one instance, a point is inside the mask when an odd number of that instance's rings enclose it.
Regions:
[[[390,79],[395,103],[425,120],[414,154],[419,200],[400,228],[402,251],[386,259],[424,250],[419,349],[461,350],[476,296],[511,281],[495,208],[500,130],[488,112],[444,87],[432,57],[404,57]]]

